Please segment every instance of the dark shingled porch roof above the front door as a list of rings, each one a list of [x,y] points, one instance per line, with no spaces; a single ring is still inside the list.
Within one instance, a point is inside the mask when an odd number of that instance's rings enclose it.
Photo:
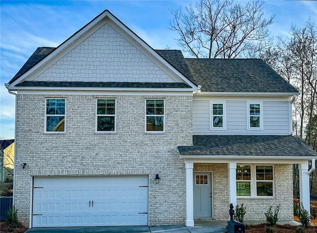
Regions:
[[[298,136],[194,135],[193,146],[179,146],[181,156],[317,156]]]

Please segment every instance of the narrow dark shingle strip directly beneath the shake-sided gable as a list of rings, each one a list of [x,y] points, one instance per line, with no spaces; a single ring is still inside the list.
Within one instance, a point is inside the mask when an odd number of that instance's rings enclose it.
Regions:
[[[24,81],[17,87],[134,87],[134,88],[191,88],[186,83],[176,82],[45,82]]]

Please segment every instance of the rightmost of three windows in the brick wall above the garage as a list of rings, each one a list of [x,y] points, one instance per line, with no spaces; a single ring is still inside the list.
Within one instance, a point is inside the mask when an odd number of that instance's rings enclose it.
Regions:
[[[164,100],[146,100],[146,131],[164,131]]]

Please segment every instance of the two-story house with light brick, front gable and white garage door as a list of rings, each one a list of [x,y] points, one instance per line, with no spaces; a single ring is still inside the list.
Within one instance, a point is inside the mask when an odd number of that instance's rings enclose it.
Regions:
[[[105,10],[57,48],[38,48],[16,92],[14,205],[29,227],[194,226],[281,204],[292,164],[309,210],[309,161],[292,136],[297,91],[260,59],[154,50]],[[315,163],[315,162],[314,162]]]

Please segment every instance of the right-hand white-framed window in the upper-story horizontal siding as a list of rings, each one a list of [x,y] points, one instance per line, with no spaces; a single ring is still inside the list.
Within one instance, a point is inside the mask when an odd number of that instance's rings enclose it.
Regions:
[[[248,130],[263,130],[263,102],[247,102]]]

